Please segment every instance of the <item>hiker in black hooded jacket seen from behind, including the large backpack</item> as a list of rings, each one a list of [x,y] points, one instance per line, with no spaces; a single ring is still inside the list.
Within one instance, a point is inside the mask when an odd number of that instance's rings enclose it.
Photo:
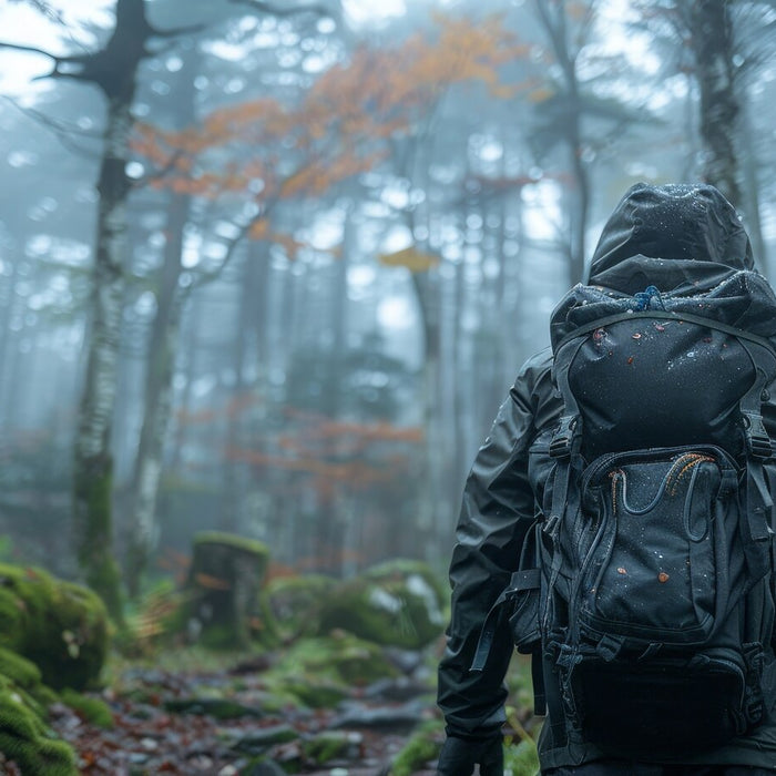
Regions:
[[[631,187],[551,340],[467,479],[438,773],[503,772],[515,645],[543,775],[776,773],[776,297],[734,208]]]

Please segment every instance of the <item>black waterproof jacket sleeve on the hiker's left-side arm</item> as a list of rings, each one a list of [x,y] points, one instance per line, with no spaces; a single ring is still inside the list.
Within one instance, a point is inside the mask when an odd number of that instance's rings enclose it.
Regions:
[[[513,652],[504,617],[484,670],[469,668],[486,615],[517,570],[534,517],[528,449],[535,436],[535,382],[529,361],[477,453],[463,491],[450,563],[451,619],[438,673],[438,704],[452,736],[492,735],[504,722],[503,680]]]

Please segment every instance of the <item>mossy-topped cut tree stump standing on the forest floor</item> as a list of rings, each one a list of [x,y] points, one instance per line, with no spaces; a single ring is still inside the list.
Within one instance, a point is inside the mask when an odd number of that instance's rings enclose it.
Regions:
[[[196,534],[186,583],[190,631],[208,646],[247,647],[268,561],[262,542],[229,533]]]

